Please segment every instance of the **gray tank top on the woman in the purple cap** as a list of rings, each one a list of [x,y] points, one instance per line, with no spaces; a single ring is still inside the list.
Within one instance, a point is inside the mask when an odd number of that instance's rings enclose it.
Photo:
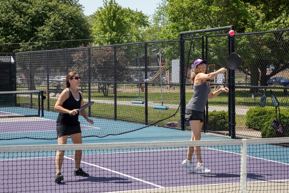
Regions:
[[[207,81],[203,84],[194,86],[194,95],[188,102],[186,109],[203,112],[208,101],[208,95],[211,91]]]

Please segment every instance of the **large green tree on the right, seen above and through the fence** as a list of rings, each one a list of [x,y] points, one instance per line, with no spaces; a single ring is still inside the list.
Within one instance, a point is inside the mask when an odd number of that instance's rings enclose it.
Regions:
[[[153,15],[153,26],[161,27],[157,37],[162,40],[179,38],[181,31],[227,25],[234,25],[237,33],[284,29],[289,26],[288,4],[286,0],[162,0]],[[270,77],[288,69],[288,32],[236,36],[235,39],[236,52],[244,57],[240,70],[249,73],[251,85],[259,85],[259,71],[260,85],[267,85]],[[221,67],[227,54],[226,40],[210,42],[209,46],[211,61],[214,59]],[[167,55],[177,49],[167,50]],[[221,50],[225,55],[220,54]],[[268,74],[267,69],[272,71]]]

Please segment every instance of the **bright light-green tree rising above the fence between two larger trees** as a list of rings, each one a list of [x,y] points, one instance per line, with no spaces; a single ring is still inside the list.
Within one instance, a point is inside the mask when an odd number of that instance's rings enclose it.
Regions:
[[[143,41],[148,16],[141,11],[122,8],[115,0],[104,0],[103,7],[90,16],[92,36],[97,45]]]

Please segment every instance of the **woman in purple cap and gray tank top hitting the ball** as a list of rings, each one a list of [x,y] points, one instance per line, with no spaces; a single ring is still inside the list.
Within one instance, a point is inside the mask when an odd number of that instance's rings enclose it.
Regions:
[[[186,106],[186,119],[190,121],[190,126],[192,129],[191,141],[201,140],[201,129],[204,122],[204,109],[208,98],[212,99],[218,96],[222,92],[228,92],[227,87],[219,89],[212,92],[210,88],[210,79],[215,78],[218,74],[223,74],[227,71],[225,68],[218,69],[215,72],[207,73],[207,60],[197,59],[194,61],[194,74],[191,77],[191,82],[194,83],[194,94],[192,99],[188,102]],[[211,173],[211,170],[205,166],[201,158],[200,147],[189,147],[187,159],[185,159],[182,164],[190,172],[194,172],[194,164],[192,163],[193,154],[197,156],[197,170],[201,170],[202,173]]]

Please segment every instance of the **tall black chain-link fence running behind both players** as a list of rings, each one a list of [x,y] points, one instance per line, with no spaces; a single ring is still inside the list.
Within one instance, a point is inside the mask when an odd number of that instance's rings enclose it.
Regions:
[[[277,118],[284,127],[280,137],[287,136],[288,33],[289,30],[275,30],[234,36],[235,52],[243,59],[235,70],[236,138],[277,135],[267,131],[273,128],[277,108],[270,90],[281,110],[281,120],[277,110]],[[193,95],[193,84],[189,82],[192,63],[197,58],[207,59],[210,72],[224,67],[229,53],[228,38],[228,34],[185,38],[186,104]],[[9,80],[15,79],[16,90],[43,90],[47,96],[45,110],[53,112],[58,96],[65,89],[66,74],[77,71],[85,101],[96,102],[88,110],[91,117],[180,129],[179,59],[179,40],[21,52],[15,53],[15,78]],[[11,71],[14,73],[14,69]],[[228,87],[228,74],[212,79],[210,85],[212,91]],[[267,96],[266,105],[260,107],[263,95]],[[221,93],[208,101],[204,132],[229,135],[228,100],[228,93]],[[262,114],[266,114],[266,120],[255,124],[259,121],[252,117],[260,119]],[[141,128],[115,127],[101,135]],[[187,125],[186,129],[190,127]]]

